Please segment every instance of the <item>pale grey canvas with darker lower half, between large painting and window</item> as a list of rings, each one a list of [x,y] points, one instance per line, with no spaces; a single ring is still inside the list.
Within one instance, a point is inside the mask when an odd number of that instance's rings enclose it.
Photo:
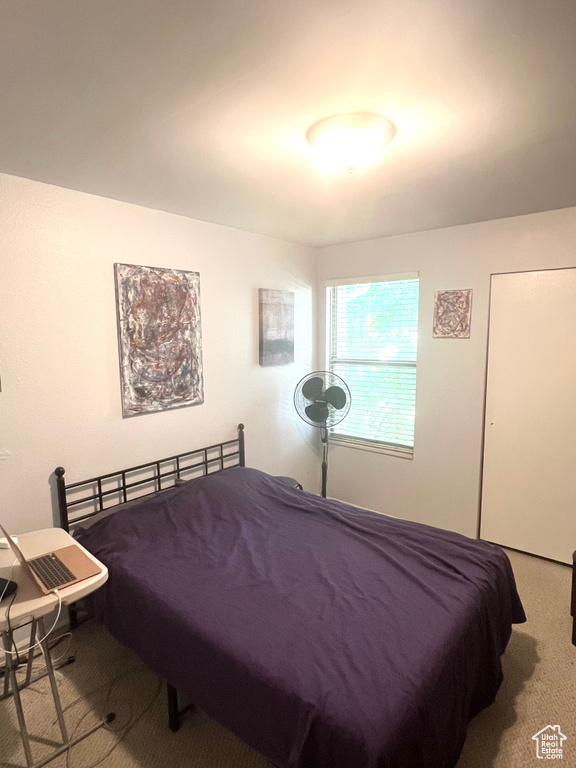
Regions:
[[[294,293],[258,290],[260,365],[294,362]]]

